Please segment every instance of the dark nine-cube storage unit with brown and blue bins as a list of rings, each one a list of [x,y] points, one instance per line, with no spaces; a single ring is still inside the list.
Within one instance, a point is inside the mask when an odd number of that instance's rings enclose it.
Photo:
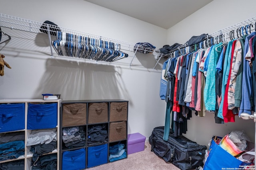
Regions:
[[[127,158],[127,100],[63,101],[60,113],[60,170]]]

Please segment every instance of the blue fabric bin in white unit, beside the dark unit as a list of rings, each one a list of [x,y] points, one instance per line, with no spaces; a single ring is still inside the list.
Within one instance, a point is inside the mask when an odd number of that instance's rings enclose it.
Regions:
[[[28,104],[27,129],[47,129],[57,126],[57,103]]]

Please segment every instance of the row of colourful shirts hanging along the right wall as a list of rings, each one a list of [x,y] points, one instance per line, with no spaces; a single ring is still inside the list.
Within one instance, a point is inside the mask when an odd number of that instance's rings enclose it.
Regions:
[[[161,93],[167,102],[165,140],[169,123],[174,135],[186,133],[192,110],[196,116],[213,111],[219,124],[234,122],[236,115],[255,110],[256,32],[217,42],[210,39],[210,47],[197,49],[195,45],[175,51],[182,55],[164,63],[167,87],[166,94]]]

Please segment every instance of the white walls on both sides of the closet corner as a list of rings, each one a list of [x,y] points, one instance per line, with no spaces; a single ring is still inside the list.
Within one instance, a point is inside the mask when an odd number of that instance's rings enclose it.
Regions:
[[[255,16],[255,5],[254,0],[214,0],[168,30],[83,0],[0,0],[0,12],[40,22],[50,20],[61,27],[122,41],[149,42],[160,48]],[[142,67],[130,68],[56,55],[51,58],[46,34],[4,31],[12,40],[0,45],[0,53],[12,69],[5,68],[0,77],[1,99],[41,98],[42,93],[59,93],[63,100],[124,99],[129,100],[128,133],[140,132],[148,138],[154,127],[164,125],[166,104],[159,98],[160,66],[151,69],[154,60],[138,54]],[[253,121],[236,117],[236,123],[219,125],[208,113],[188,121],[186,137],[207,145],[212,135],[241,129],[254,140]]]

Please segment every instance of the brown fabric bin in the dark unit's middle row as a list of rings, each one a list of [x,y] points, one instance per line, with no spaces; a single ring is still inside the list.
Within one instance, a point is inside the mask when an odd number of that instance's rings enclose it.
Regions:
[[[109,141],[126,139],[126,121],[110,122]]]

